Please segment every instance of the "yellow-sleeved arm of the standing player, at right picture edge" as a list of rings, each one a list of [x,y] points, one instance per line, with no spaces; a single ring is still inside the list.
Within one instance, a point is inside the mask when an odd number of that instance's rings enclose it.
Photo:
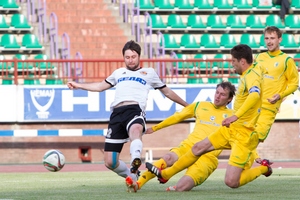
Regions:
[[[287,69],[285,71],[285,77],[287,79],[287,88],[280,94],[280,98],[284,98],[298,89],[299,74],[295,61],[292,58],[287,60]]]

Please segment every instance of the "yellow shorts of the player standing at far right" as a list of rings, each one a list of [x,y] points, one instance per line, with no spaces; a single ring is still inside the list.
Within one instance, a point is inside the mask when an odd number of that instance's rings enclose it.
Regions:
[[[260,115],[258,121],[256,123],[255,130],[259,134],[259,140],[264,141],[271,129],[272,124],[275,121],[276,113],[262,108],[260,111]]]

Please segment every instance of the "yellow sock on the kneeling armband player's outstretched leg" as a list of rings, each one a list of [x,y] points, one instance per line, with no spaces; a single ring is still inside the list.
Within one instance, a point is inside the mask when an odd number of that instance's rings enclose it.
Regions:
[[[161,175],[164,179],[169,180],[172,176],[178,172],[186,169],[187,167],[194,164],[200,156],[195,156],[192,150],[181,156],[173,165],[165,170],[162,170]]]

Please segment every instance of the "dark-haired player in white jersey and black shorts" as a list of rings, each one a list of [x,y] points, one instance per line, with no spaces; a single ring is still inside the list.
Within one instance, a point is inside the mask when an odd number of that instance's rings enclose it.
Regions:
[[[102,82],[76,83],[68,82],[70,89],[83,89],[93,92],[116,87],[115,99],[111,104],[112,114],[109,119],[105,139],[105,166],[126,178],[137,179],[138,168],[141,165],[143,148],[142,134],[145,131],[145,107],[150,88],[160,90],[167,98],[187,106],[174,91],[168,88],[158,77],[153,68],[140,67],[141,47],[134,41],[125,44],[123,57],[126,67],[115,70]],[[131,141],[131,168],[119,160],[124,143]]]

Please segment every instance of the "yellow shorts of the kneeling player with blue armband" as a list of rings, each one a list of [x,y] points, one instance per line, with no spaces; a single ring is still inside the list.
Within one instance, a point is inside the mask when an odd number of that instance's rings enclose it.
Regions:
[[[246,127],[231,125],[222,126],[208,136],[215,149],[231,149],[228,164],[244,168],[249,161],[252,151],[257,147],[259,140],[255,131]]]

